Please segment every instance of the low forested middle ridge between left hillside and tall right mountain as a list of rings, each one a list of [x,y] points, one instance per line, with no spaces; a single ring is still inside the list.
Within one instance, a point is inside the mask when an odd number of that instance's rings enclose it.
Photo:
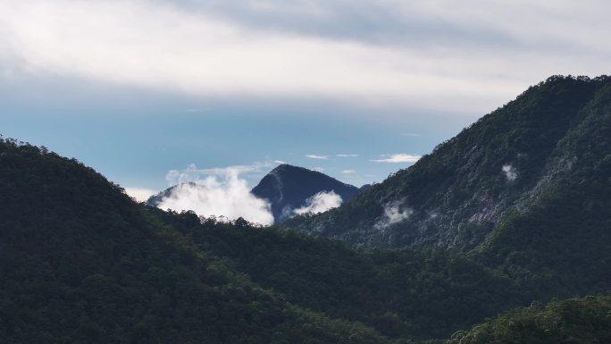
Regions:
[[[355,252],[293,231],[165,216],[200,248],[227,257],[291,303],[365,323],[391,338],[444,338],[531,302],[500,273],[440,249]]]

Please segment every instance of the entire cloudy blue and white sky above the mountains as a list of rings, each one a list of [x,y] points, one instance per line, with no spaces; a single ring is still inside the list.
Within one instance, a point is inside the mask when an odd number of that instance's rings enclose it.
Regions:
[[[0,0],[0,134],[138,197],[189,171],[239,171],[251,188],[283,163],[360,186],[551,75],[609,74],[608,13],[593,0]]]

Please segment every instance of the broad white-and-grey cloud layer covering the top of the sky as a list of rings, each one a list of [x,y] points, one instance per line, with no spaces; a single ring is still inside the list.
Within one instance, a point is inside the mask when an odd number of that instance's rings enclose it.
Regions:
[[[607,71],[606,2],[466,3],[5,0],[0,72],[480,111],[558,71]]]

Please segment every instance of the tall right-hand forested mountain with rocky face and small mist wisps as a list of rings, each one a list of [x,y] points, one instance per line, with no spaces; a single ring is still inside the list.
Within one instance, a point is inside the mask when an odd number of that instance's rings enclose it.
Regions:
[[[550,197],[573,193],[606,214],[601,192],[573,191],[609,188],[610,87],[609,77],[549,78],[339,208],[279,225],[357,247],[472,251]]]

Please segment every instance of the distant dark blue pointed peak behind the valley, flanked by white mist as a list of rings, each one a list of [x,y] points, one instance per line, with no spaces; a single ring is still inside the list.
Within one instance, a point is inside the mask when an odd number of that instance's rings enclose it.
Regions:
[[[319,192],[334,192],[343,202],[360,190],[321,172],[281,164],[267,173],[252,189],[253,195],[267,199],[276,221],[292,216],[294,210],[306,206],[308,199]]]

